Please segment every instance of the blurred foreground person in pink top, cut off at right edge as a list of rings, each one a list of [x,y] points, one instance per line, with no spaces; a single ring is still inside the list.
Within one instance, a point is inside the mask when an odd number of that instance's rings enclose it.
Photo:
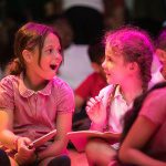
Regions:
[[[118,152],[121,164],[110,163],[108,166],[166,166],[165,96],[164,82],[135,100],[124,118]]]

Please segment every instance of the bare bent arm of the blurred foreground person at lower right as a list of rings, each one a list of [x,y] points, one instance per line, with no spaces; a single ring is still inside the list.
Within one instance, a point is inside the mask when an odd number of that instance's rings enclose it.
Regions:
[[[139,116],[121,146],[120,160],[139,166],[166,166],[165,162],[154,159],[141,151],[156,129],[157,125],[146,117]]]

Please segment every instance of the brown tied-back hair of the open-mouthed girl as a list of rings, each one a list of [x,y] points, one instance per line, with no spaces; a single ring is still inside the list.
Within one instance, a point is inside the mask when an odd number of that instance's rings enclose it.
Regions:
[[[15,59],[10,64],[9,73],[18,75],[22,71],[25,71],[24,60],[22,56],[22,51],[24,49],[33,51],[35,46],[39,46],[39,65],[41,60],[41,50],[43,48],[44,40],[49,33],[55,34],[61,44],[61,39],[58,32],[45,24],[40,24],[35,22],[28,22],[21,27],[15,33],[14,39],[14,55]]]

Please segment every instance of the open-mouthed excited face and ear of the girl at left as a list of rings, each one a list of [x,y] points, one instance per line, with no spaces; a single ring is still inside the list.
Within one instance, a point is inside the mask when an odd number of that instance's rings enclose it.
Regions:
[[[61,45],[59,38],[53,33],[49,33],[44,40],[41,51],[41,60],[39,62],[39,48],[33,51],[31,69],[34,74],[43,80],[51,80],[62,62]]]

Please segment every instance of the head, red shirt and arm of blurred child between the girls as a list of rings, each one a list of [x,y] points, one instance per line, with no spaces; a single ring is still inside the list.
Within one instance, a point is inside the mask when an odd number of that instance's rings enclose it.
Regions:
[[[77,110],[81,108],[90,97],[96,96],[98,92],[107,85],[105,73],[102,68],[105,56],[104,44],[96,43],[90,45],[87,51],[94,72],[75,90],[75,105]]]

